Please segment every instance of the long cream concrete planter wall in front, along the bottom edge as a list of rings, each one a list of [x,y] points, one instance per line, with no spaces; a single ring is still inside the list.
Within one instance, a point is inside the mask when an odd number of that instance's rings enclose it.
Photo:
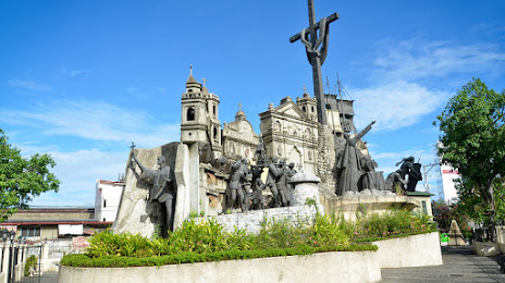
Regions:
[[[60,283],[377,282],[377,251],[321,253],[136,268],[60,268]]]

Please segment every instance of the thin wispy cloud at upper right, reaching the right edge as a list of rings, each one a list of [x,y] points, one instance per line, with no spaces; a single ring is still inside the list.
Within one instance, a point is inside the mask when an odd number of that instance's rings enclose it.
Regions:
[[[384,40],[374,54],[372,78],[387,82],[412,81],[456,73],[501,73],[504,71],[505,52],[500,46],[476,44],[457,46],[443,41],[409,39]]]

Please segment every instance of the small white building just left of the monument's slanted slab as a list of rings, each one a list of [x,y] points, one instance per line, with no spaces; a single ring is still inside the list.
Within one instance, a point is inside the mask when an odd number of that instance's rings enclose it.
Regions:
[[[95,193],[95,218],[103,222],[113,222],[123,194],[123,181],[97,180]]]

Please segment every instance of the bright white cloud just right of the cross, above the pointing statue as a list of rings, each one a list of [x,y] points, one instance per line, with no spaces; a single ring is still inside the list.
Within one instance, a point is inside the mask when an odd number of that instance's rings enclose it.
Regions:
[[[365,127],[377,121],[374,130],[397,130],[420,121],[449,96],[445,91],[428,89],[403,81],[352,89],[355,98],[356,125]]]

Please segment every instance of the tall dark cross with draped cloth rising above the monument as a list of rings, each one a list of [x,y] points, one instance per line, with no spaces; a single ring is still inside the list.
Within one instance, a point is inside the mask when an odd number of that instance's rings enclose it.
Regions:
[[[318,119],[319,123],[327,124],[327,112],[324,94],[322,88],[321,65],[328,56],[328,40],[330,36],[330,23],[338,19],[334,13],[321,19],[316,23],[316,12],[313,11],[313,0],[309,2],[309,27],[301,29],[298,34],[290,37],[290,42],[300,39],[305,45],[307,58],[312,65],[313,95],[318,100]],[[319,29],[319,36],[318,36]],[[322,46],[321,46],[322,45]],[[321,48],[320,48],[321,47]]]

